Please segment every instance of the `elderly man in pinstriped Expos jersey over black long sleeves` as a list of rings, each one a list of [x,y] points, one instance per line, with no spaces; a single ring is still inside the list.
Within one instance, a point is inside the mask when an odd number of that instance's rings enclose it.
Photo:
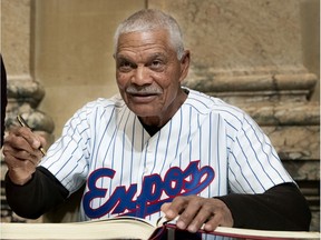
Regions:
[[[17,128],[4,141],[7,198],[37,218],[86,184],[80,220],[169,219],[196,232],[217,226],[308,230],[311,213],[257,124],[222,100],[182,87],[189,67],[177,22],[152,9],[115,34],[120,97],[78,110],[41,159],[43,140]],[[41,160],[41,161],[40,161]]]

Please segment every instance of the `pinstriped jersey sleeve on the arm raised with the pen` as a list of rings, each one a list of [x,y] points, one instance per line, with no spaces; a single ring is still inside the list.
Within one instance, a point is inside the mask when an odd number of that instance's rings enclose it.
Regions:
[[[86,181],[90,157],[90,117],[88,106],[78,110],[64,127],[61,137],[49,148],[40,166],[48,169],[70,194]]]

